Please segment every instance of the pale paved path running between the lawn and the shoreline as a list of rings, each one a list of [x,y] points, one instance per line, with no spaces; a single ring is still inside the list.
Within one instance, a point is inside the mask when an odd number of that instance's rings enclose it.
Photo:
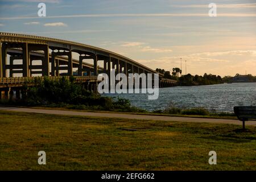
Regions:
[[[242,125],[242,122],[236,119],[170,117],[170,116],[161,116],[161,115],[138,115],[138,114],[121,114],[121,113],[93,113],[93,112],[83,112],[83,111],[31,109],[31,108],[20,108],[20,107],[1,107],[1,106],[0,106],[0,110],[19,111],[19,112],[25,112],[25,113],[81,115],[81,116],[90,116],[90,117],[146,119],[146,120],[177,121],[177,122],[228,123],[228,124],[234,124],[234,125]],[[256,121],[246,122],[246,125],[256,126]]]

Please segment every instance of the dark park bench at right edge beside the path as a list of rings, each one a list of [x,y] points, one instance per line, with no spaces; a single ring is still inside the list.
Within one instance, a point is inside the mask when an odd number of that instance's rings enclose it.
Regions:
[[[245,121],[256,120],[256,106],[236,106],[234,114],[243,122],[243,129],[245,129]]]

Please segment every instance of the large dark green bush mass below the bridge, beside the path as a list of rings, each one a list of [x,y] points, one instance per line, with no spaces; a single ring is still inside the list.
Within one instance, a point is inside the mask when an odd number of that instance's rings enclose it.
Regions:
[[[69,79],[61,77],[59,80],[44,77],[43,81],[35,78],[34,82],[35,86],[27,86],[28,84],[25,83],[22,89],[22,100],[12,104],[144,112],[142,109],[131,106],[127,99],[102,97],[98,93],[89,92],[82,84],[77,84],[74,77]]]

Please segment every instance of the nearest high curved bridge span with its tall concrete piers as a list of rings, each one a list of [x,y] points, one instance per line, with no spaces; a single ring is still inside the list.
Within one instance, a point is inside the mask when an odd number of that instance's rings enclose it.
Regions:
[[[2,43],[2,61],[1,61],[1,77],[6,77],[6,54],[7,50],[11,53],[11,48],[22,49],[23,59],[23,77],[31,76],[30,61],[32,51],[43,51],[44,57],[42,57],[42,75],[43,76],[56,76],[56,63],[55,56],[67,56],[68,57],[68,75],[73,74],[73,60],[72,52],[79,53],[79,76],[82,76],[82,60],[93,59],[94,60],[94,75],[98,75],[98,61],[104,61],[104,70],[110,71],[110,67],[115,68],[117,72],[128,73],[156,73],[154,70],[145,67],[144,65],[131,60],[125,56],[119,55],[118,53],[108,51],[102,48],[89,46],[82,43],[71,42],[67,40],[46,38],[42,36],[34,35],[23,35],[23,34],[11,34],[0,32],[0,41]],[[49,59],[49,49],[52,50],[52,57]],[[14,58],[18,57],[14,55]],[[13,59],[13,58],[12,58]],[[49,70],[49,63],[51,63],[51,70]],[[39,68],[39,67],[38,67]],[[119,69],[118,69],[119,68]],[[162,75],[160,75],[161,77]]]

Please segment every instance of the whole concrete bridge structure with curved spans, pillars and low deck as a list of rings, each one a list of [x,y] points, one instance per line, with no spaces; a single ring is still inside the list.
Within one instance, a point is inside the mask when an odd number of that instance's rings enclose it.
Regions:
[[[79,59],[74,59],[77,53]],[[7,61],[9,55],[9,61]],[[15,60],[22,60],[17,64]],[[86,63],[92,60],[93,64]],[[39,61],[38,64],[33,64]],[[102,61],[102,67],[99,66]],[[76,71],[74,71],[76,69]],[[35,35],[0,32],[0,91],[17,88],[34,76],[77,76],[77,81],[96,83],[95,77],[108,73],[111,69],[118,73],[157,73],[137,61],[106,49],[87,44]],[[21,78],[15,78],[18,73]],[[85,76],[85,77],[84,77]],[[84,77],[84,78],[82,78]],[[159,87],[175,86],[175,80],[163,78],[159,73]],[[95,86],[94,86],[95,87]],[[9,92],[8,91],[8,92]]]

